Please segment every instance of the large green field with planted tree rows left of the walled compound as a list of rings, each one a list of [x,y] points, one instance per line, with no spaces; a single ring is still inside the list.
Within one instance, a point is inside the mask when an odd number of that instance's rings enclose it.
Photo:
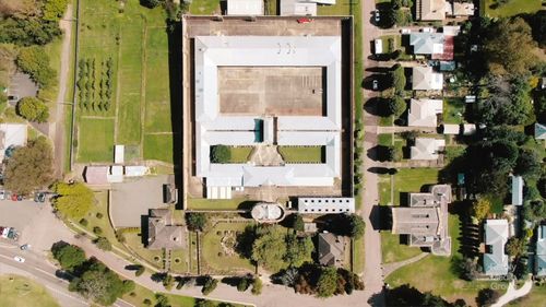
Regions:
[[[165,19],[162,7],[150,10],[140,5],[139,1],[127,1],[120,10],[120,2],[117,1],[81,0],[79,59],[95,63],[87,76],[93,82],[93,104],[105,101],[102,80],[106,80],[105,63],[109,59],[112,76],[111,86],[106,86],[111,87],[108,107],[90,109],[83,103],[78,104],[79,143],[94,142],[97,132],[96,129],[83,129],[82,116],[91,115],[97,119],[116,117],[116,120],[112,129],[108,127],[107,132],[111,137],[105,137],[107,143],[100,142],[96,150],[80,146],[78,162],[109,162],[111,155],[107,149],[117,143],[140,147],[134,151],[139,154],[134,162],[158,160],[173,163],[169,50]],[[104,151],[108,155],[98,155],[95,151]]]

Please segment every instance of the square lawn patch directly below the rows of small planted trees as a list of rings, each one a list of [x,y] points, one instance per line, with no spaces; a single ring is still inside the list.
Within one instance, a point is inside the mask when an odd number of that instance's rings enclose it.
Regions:
[[[114,119],[80,118],[78,121],[78,161],[111,162],[114,158]]]

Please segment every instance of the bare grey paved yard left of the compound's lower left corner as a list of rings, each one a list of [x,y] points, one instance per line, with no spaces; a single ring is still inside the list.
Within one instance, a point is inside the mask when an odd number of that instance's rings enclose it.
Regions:
[[[150,209],[166,206],[163,203],[163,186],[174,180],[173,176],[155,176],[115,184],[110,202],[114,226],[140,227],[142,215],[147,215]]]

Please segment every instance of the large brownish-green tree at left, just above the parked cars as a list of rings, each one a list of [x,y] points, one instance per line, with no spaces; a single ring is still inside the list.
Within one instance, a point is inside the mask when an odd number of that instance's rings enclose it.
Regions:
[[[37,188],[51,184],[52,153],[46,138],[29,141],[19,147],[8,160],[4,172],[4,186],[16,193],[26,194]]]

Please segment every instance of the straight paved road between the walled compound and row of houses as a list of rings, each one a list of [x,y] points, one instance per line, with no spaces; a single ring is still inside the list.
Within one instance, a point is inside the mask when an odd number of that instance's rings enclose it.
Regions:
[[[371,43],[375,38],[381,35],[378,27],[371,24],[372,12],[376,10],[376,3],[371,0],[363,1],[363,50],[364,50],[364,68],[365,71],[368,68],[376,67],[377,62],[369,59],[371,56]],[[364,101],[366,102],[370,97],[373,97],[376,93],[371,91],[363,91]],[[365,125],[365,141],[364,141],[364,193],[363,193],[363,204],[364,210],[361,212],[364,221],[366,222],[365,232],[365,269],[364,269],[364,284],[366,286],[366,292],[369,297],[373,299],[368,302],[372,306],[384,306],[384,297],[382,295],[382,287],[384,284],[383,273],[381,269],[381,235],[379,231],[373,229],[373,225],[379,223],[380,216],[378,214],[372,214],[373,205],[378,204],[379,192],[378,192],[378,176],[375,173],[368,172],[368,168],[377,166],[376,162],[368,157],[368,150],[377,145],[377,126],[378,118],[371,114],[365,113],[364,115]],[[377,211],[376,211],[377,212]]]

